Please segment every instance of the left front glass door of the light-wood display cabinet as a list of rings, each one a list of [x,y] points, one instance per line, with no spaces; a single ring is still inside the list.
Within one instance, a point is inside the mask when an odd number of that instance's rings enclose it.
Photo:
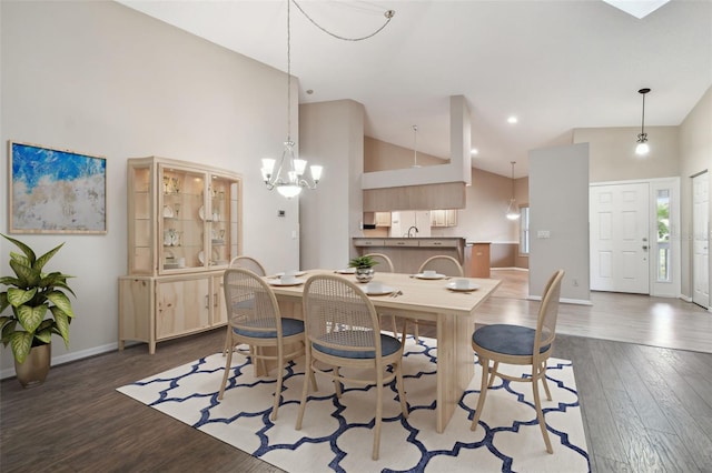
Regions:
[[[207,268],[205,232],[211,217],[206,173],[159,165],[159,272]]]

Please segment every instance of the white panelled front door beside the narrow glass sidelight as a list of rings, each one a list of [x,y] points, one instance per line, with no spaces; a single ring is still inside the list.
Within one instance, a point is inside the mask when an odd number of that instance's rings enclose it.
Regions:
[[[650,293],[650,184],[592,185],[591,289]]]

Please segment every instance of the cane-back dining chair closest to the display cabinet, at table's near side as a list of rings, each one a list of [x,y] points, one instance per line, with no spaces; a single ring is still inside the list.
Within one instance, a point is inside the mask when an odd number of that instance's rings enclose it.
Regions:
[[[241,268],[227,269],[222,283],[228,310],[230,344],[218,400],[222,400],[225,394],[234,349],[246,344],[247,350],[238,349],[238,351],[250,359],[255,375],[258,374],[257,363],[260,363],[266,373],[266,362],[276,362],[277,386],[270,415],[275,421],[281,397],[285,363],[304,354],[304,322],[283,318],[271,288],[253,271]],[[271,351],[265,349],[271,349]]]

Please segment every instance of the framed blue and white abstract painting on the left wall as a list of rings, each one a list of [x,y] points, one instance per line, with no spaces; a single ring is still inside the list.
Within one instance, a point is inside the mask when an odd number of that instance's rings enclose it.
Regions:
[[[107,160],[9,142],[10,233],[106,233]]]

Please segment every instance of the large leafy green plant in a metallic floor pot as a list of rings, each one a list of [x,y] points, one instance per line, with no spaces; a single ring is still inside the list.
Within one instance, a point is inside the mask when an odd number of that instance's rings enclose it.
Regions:
[[[27,386],[47,378],[52,333],[60,335],[69,346],[69,324],[75,313],[66,292],[75,293],[67,285],[70,275],[42,272],[44,264],[65,243],[37,258],[27,244],[2,236],[23,253],[10,252],[14,276],[0,278],[0,284],[7,286],[0,292],[0,328],[2,344],[10,344],[12,349],[18,381]],[[11,311],[3,313],[8,308]]]

